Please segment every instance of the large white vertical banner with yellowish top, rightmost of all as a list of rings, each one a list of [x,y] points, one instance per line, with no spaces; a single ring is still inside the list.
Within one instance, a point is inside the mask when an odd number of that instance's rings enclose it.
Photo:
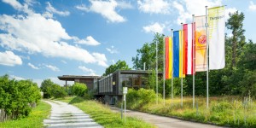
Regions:
[[[208,9],[209,24],[209,69],[225,67],[224,6]]]

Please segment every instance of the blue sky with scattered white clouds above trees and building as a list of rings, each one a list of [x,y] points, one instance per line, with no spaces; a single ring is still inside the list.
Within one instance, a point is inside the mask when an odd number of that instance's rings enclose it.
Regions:
[[[243,12],[246,38],[255,42],[256,0],[3,0],[0,75],[64,84],[57,76],[102,75],[118,60],[132,67],[154,32],[170,35],[191,15],[204,15],[206,5]]]

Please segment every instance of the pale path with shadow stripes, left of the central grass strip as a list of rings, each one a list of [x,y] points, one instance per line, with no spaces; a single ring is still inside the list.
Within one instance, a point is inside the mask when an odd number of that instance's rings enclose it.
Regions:
[[[90,116],[79,108],[66,102],[44,101],[51,105],[51,114],[49,119],[44,119],[44,126],[49,128],[102,128]]]

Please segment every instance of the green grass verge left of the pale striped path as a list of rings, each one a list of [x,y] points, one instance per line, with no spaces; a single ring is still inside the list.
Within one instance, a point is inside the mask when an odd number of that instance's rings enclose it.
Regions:
[[[26,118],[8,120],[0,123],[0,127],[4,128],[39,128],[44,127],[43,120],[49,116],[50,105],[45,102],[39,102],[36,108],[32,109]]]

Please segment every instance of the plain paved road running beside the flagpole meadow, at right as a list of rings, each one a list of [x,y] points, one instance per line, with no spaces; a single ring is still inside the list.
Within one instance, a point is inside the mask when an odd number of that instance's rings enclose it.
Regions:
[[[119,108],[111,107],[113,112],[120,113]],[[126,110],[126,115],[143,119],[144,121],[156,125],[159,128],[219,128],[217,125],[207,125],[196,122],[185,121],[182,119],[174,119],[165,116],[159,116],[150,113],[142,113],[137,111]]]

